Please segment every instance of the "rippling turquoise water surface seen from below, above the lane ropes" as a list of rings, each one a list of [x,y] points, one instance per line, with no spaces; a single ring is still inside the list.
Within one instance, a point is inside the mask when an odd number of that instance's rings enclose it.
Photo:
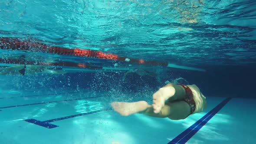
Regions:
[[[185,65],[255,62],[253,0],[6,0],[0,34]]]

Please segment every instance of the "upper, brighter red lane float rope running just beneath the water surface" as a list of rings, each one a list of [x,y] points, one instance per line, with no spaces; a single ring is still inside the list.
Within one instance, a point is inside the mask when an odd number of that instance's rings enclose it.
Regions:
[[[44,43],[33,42],[30,40],[19,40],[18,38],[0,37],[0,49],[12,49],[12,50],[22,50],[29,52],[46,52],[58,55],[68,55],[68,56],[81,56],[89,58],[98,59],[108,59],[122,62],[131,62],[144,65],[160,65],[177,69],[188,69],[205,72],[204,69],[198,69],[194,67],[181,66],[176,64],[171,64],[168,62],[157,62],[157,61],[145,61],[143,59],[131,59],[128,57],[121,57],[111,53],[104,53],[101,51],[91,50],[91,49],[68,49],[57,46],[49,46]]]

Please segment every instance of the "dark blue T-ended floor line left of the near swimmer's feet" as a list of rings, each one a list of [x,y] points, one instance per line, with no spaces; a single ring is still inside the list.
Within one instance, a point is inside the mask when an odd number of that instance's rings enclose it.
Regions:
[[[97,111],[90,111],[90,112],[86,112],[86,113],[82,113],[82,114],[78,114],[78,115],[70,115],[70,116],[66,116],[66,117],[62,117],[62,118],[55,118],[55,119],[51,119],[51,120],[47,120],[47,121],[38,121],[35,119],[27,119],[24,121],[51,129],[51,128],[57,128],[59,126],[55,125],[55,124],[50,124],[50,122],[61,121],[61,120],[68,119],[68,118],[74,118],[74,117],[79,117],[82,115],[89,115],[89,114],[94,114],[97,112],[109,111],[109,110],[112,110],[112,108],[106,108],[106,109],[97,110]]]

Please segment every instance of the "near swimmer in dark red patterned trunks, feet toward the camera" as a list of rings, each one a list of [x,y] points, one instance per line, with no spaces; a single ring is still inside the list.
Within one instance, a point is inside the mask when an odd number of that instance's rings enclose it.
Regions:
[[[152,105],[147,101],[115,101],[111,105],[123,116],[139,113],[151,117],[181,120],[202,112],[207,107],[207,102],[196,85],[169,83],[154,93]]]

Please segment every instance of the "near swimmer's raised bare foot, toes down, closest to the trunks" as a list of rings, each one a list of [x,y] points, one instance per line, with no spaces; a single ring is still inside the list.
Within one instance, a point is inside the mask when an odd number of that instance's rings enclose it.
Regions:
[[[175,89],[172,86],[165,86],[160,88],[156,93],[153,95],[153,108],[154,113],[158,114],[161,109],[164,107],[165,101],[168,98],[171,98],[175,93]]]

